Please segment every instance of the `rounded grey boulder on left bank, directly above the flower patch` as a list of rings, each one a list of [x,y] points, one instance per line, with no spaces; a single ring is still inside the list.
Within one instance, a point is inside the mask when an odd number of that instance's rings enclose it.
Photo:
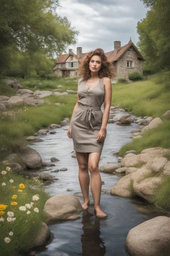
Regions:
[[[31,147],[20,147],[19,157],[25,163],[27,169],[39,169],[42,165],[42,159],[40,154]]]

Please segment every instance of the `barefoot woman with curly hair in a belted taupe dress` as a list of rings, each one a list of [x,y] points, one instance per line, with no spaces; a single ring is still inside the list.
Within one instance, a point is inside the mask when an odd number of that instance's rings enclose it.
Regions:
[[[114,67],[104,51],[98,48],[88,53],[79,71],[82,78],[78,81],[77,103],[72,112],[67,135],[73,139],[76,151],[78,179],[84,199],[82,208],[86,210],[90,204],[90,184],[94,212],[97,217],[104,218],[107,215],[100,209],[102,181],[98,163],[106,138],[106,125],[112,101],[110,79],[114,77]],[[103,103],[104,113],[101,111]]]

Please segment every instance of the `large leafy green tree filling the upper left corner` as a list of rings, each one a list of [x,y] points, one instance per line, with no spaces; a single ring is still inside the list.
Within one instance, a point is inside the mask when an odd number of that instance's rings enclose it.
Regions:
[[[1,71],[13,51],[41,50],[52,57],[76,42],[78,31],[56,14],[58,6],[58,0],[1,0]]]

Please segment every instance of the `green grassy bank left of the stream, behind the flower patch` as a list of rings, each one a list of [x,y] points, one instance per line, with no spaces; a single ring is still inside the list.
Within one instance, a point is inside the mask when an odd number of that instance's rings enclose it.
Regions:
[[[22,80],[22,79],[21,79]],[[58,85],[63,85],[59,91],[66,91],[66,89],[76,90],[77,84],[74,79],[60,79],[55,81],[44,80],[39,81],[29,79],[21,81],[21,85],[28,89],[56,89]],[[33,85],[36,84],[36,88]],[[42,88],[43,87],[43,88]],[[13,89],[5,87],[1,83],[1,91],[5,92],[3,95],[11,96]],[[0,116],[0,145],[1,145],[1,158],[5,155],[15,151],[25,137],[34,135],[35,131],[43,127],[47,127],[50,123],[60,123],[65,117],[72,115],[72,110],[76,104],[76,94],[69,94],[65,96],[54,96],[44,98],[45,102],[39,107],[24,107],[23,105],[15,105],[9,107],[13,118]],[[55,105],[54,103],[62,103],[63,105]]]

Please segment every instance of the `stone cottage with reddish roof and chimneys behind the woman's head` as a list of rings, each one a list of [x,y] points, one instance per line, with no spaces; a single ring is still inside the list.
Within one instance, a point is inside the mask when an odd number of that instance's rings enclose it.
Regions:
[[[129,41],[127,45],[121,46],[120,41],[114,41],[114,50],[105,53],[109,61],[112,61],[115,67],[116,77],[128,79],[131,71],[138,71],[143,74],[143,61],[145,59],[133,44]],[[54,73],[59,77],[74,77],[78,75],[78,64],[84,61],[87,53],[82,53],[82,47],[77,47],[77,53],[69,50],[68,54],[62,54],[56,61]]]

